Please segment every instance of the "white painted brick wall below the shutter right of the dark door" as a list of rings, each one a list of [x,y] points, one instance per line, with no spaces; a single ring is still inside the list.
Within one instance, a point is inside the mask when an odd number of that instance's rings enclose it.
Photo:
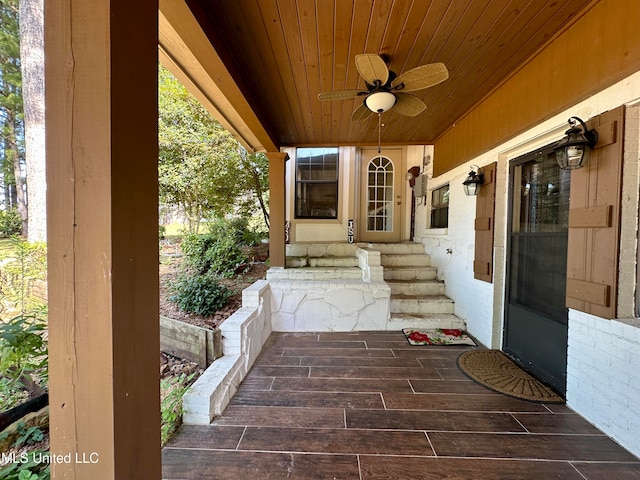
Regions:
[[[640,455],[640,320],[571,310],[567,405]]]

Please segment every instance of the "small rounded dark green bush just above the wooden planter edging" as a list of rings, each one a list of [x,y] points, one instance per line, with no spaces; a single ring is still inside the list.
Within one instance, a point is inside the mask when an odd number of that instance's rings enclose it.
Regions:
[[[170,285],[172,295],[180,310],[196,315],[211,315],[220,310],[233,292],[220,284],[220,277],[214,273],[183,273]]]

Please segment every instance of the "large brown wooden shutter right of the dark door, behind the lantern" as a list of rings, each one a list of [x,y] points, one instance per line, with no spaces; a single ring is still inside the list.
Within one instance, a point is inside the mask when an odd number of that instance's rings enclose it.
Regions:
[[[598,143],[571,172],[567,307],[616,318],[624,107],[592,118]]]

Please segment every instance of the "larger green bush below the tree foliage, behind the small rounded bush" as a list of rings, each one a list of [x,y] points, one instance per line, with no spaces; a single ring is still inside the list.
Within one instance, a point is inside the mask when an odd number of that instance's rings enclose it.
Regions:
[[[246,221],[217,220],[209,233],[190,234],[182,241],[186,265],[200,274],[215,272],[223,276],[233,275],[247,256],[240,249]]]

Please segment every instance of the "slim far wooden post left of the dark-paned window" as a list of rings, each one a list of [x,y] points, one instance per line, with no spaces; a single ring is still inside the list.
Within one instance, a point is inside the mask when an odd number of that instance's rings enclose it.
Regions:
[[[269,157],[269,261],[272,267],[284,267],[285,165],[289,155],[283,152],[266,155]]]

